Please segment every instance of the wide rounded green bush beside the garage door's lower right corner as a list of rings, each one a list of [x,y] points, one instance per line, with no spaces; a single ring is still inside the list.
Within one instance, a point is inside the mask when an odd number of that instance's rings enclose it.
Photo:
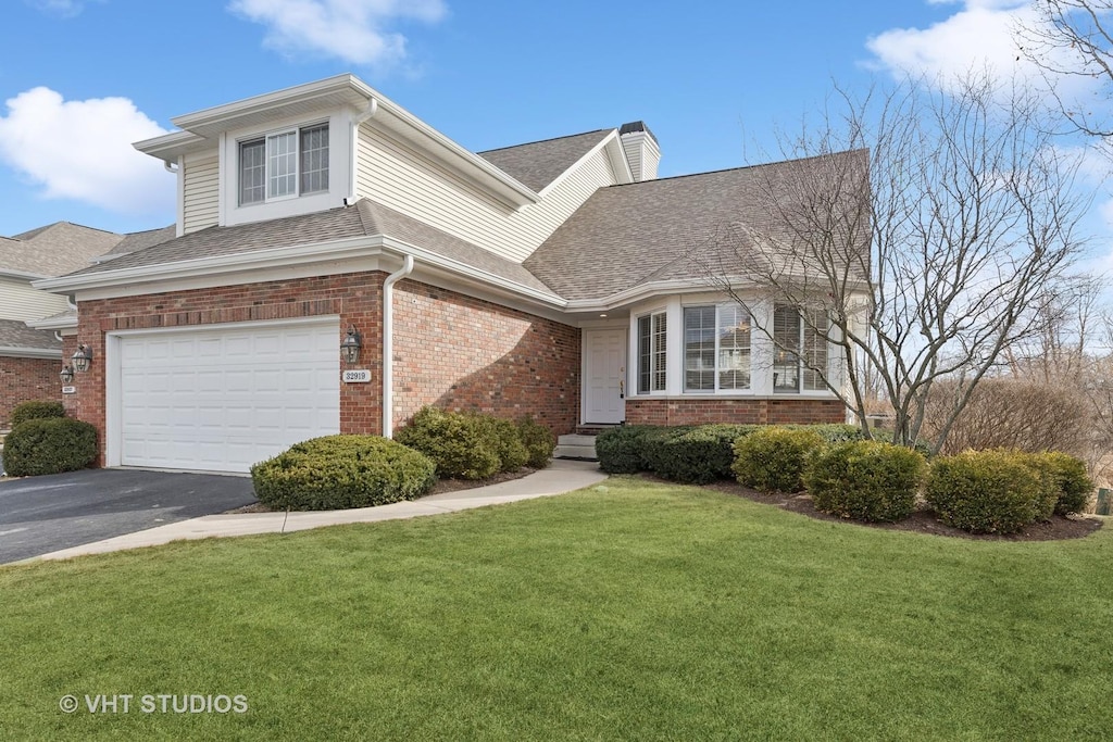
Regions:
[[[329,435],[252,467],[259,502],[274,509],[327,511],[421,497],[436,482],[423,454],[376,435]]]

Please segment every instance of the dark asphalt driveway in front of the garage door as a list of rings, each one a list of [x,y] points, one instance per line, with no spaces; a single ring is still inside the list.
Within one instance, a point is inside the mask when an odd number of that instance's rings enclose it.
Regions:
[[[0,564],[255,502],[252,479],[83,469],[0,482]]]

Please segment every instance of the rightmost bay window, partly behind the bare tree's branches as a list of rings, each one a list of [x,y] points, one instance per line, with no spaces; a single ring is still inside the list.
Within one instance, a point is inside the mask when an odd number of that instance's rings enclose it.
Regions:
[[[792,306],[777,305],[772,316],[772,390],[776,394],[819,392],[827,388],[827,315],[808,309],[807,315]],[[807,318],[807,321],[805,321]]]

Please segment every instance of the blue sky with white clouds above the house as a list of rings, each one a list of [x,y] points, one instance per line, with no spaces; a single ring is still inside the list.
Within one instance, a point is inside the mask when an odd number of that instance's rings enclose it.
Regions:
[[[1011,29],[1031,12],[1024,0],[6,0],[0,235],[171,224],[174,176],[131,142],[342,72],[472,151],[643,120],[661,177],[776,159],[778,127],[798,127],[833,81],[865,91],[1023,66]],[[1111,204],[1102,191],[1092,219],[1106,257]]]

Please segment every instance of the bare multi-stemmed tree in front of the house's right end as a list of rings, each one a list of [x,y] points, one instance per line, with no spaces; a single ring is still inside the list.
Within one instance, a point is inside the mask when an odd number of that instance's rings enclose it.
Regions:
[[[972,76],[948,92],[907,81],[837,95],[818,126],[781,138],[786,162],[756,168],[760,215],[701,254],[720,290],[764,316],[791,307],[837,358],[778,343],[824,379],[866,435],[869,383],[894,439],[920,437],[933,386],[953,386],[938,451],[1002,354],[1064,300],[1087,199],[1078,164],[1052,146],[1038,101]]]

